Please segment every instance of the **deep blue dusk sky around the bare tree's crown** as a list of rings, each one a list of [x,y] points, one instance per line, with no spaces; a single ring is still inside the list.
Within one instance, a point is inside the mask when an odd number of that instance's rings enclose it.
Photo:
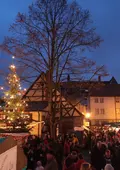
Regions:
[[[0,0],[0,43],[9,35],[9,25],[16,14],[26,12],[32,0]],[[120,0],[78,0],[83,8],[91,12],[96,32],[104,42],[89,57],[100,65],[106,65],[108,72],[120,82]],[[0,70],[7,68],[10,57],[0,53]],[[0,81],[1,82],[1,81]]]

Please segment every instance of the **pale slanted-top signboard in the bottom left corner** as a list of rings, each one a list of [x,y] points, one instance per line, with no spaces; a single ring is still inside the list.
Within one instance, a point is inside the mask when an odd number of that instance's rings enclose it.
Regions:
[[[17,146],[0,155],[0,170],[17,170]]]

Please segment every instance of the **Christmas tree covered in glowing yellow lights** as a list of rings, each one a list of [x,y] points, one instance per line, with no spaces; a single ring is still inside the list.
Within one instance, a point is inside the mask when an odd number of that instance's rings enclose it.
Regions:
[[[16,73],[14,64],[10,66],[8,85],[9,90],[5,92],[4,96],[5,123],[12,129],[25,129],[31,122],[31,119],[29,114],[24,113],[27,104],[22,100],[20,78]]]

